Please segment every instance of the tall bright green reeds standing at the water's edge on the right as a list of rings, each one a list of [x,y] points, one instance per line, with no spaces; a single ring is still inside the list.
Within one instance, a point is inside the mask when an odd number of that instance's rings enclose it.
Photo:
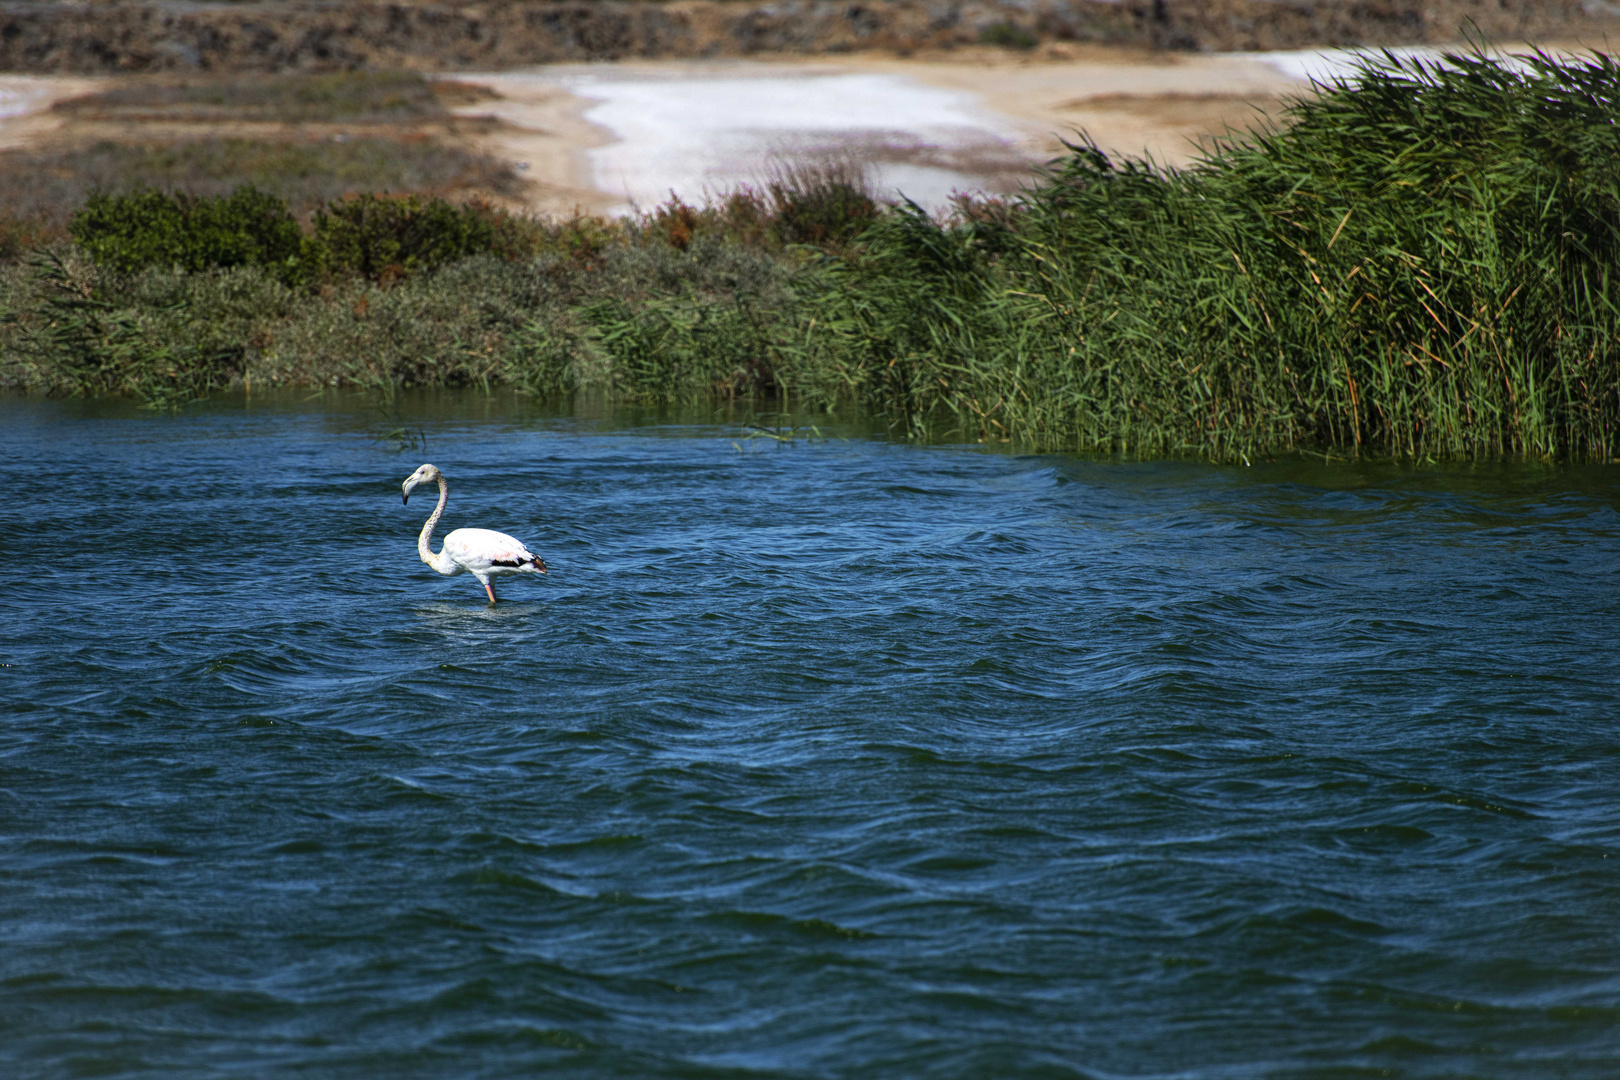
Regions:
[[[1614,458],[1617,76],[1382,57],[1186,172],[1074,146],[1000,220],[885,219],[807,348],[980,437]]]

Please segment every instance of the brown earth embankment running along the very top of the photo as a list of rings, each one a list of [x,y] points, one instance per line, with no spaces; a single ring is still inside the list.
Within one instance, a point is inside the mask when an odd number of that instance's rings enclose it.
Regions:
[[[1176,50],[1620,37],[1583,0],[486,0],[0,3],[0,71],[496,70],[1072,40]]]

